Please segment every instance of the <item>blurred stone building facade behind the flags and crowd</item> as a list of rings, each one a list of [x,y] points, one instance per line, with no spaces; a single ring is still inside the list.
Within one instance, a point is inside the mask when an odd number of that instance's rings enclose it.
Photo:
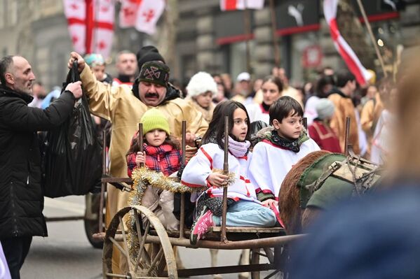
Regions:
[[[164,13],[154,36],[132,28],[119,29],[115,24],[107,71],[115,73],[111,58],[118,50],[137,52],[147,44],[171,50],[163,51],[164,54],[175,53],[175,57],[168,60],[172,77],[180,81],[187,80],[197,71],[230,73],[233,78],[242,71],[250,71],[255,78],[261,78],[271,73],[276,57],[279,59],[277,64],[286,69],[292,84],[310,80],[320,67],[339,69],[345,66],[337,55],[323,19],[322,1],[273,0],[273,10],[270,1],[265,2],[262,10],[222,12],[219,0],[171,0],[176,8],[168,6],[165,13],[170,13],[170,10],[177,13],[176,20],[166,20]],[[350,2],[356,16],[361,18],[356,1]],[[402,2],[405,5],[401,6]],[[397,45],[407,48],[419,44],[420,1],[393,0],[395,6],[388,3],[390,1],[363,0],[389,67],[397,57]],[[344,36],[362,57],[362,62],[379,71],[379,62],[367,32],[360,36],[360,32],[353,32],[352,27],[346,29]],[[175,45],[166,40],[168,34],[175,34]],[[27,57],[36,76],[48,89],[60,85],[65,79],[72,43],[62,1],[1,1],[0,36],[1,54]]]

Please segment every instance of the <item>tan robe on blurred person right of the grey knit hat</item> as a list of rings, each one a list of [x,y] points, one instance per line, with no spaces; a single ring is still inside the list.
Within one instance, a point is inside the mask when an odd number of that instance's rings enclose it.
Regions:
[[[341,150],[345,150],[346,145],[346,118],[350,117],[350,134],[348,136],[348,143],[353,145],[355,154],[360,154],[358,123],[355,118],[355,111],[351,98],[344,98],[339,94],[331,94],[328,99],[334,103],[334,115],[330,122],[330,127],[338,136]]]

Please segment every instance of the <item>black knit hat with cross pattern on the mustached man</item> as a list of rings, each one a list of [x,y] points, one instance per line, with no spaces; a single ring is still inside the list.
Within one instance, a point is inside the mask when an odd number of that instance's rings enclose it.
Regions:
[[[168,85],[170,69],[161,62],[146,62],[140,69],[139,81],[156,83],[166,87]]]

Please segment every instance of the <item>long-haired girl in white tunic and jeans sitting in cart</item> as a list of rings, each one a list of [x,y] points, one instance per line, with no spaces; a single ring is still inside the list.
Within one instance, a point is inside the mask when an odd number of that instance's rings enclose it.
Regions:
[[[203,145],[182,173],[184,185],[208,186],[207,191],[191,196],[198,213],[191,227],[192,244],[201,239],[209,227],[222,224],[223,187],[228,176],[215,170],[223,169],[224,116],[229,116],[229,173],[235,175],[227,192],[226,226],[273,227],[276,224],[276,216],[258,201],[255,188],[247,178],[251,157],[248,113],[243,104],[224,101],[216,106],[208,131],[203,136]]]

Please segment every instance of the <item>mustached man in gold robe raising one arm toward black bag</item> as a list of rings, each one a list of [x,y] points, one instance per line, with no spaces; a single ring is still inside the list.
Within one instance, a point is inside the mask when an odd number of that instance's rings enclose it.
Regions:
[[[114,177],[127,176],[126,152],[130,148],[131,136],[138,129],[138,123],[144,112],[157,108],[170,124],[170,133],[176,138],[182,137],[182,120],[187,121],[187,144],[194,146],[197,136],[202,136],[208,129],[203,115],[187,101],[179,97],[179,92],[167,90],[170,69],[156,57],[144,57],[140,75],[133,88],[128,85],[111,87],[96,80],[89,71],[83,57],[72,52],[69,59],[71,66],[78,60],[83,91],[89,97],[90,111],[112,123],[111,145],[109,148],[109,173]],[[188,155],[188,154],[187,154]],[[127,206],[128,192],[121,192],[115,187],[107,189],[106,224],[118,210]],[[114,257],[113,257],[114,260]],[[113,269],[119,264],[113,262]]]

